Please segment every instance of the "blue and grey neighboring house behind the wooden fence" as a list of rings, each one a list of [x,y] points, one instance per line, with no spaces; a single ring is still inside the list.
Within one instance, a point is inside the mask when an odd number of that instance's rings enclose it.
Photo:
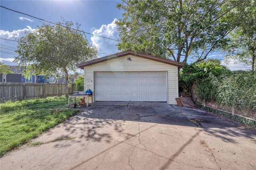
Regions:
[[[0,82],[14,82],[14,83],[31,83],[36,82],[36,77],[34,75],[30,75],[29,78],[25,78],[22,74],[0,74]]]

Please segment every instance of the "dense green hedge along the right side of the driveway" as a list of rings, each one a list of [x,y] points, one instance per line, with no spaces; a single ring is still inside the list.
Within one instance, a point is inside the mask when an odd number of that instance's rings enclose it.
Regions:
[[[228,71],[198,81],[198,97],[235,109],[256,111],[256,72]]]

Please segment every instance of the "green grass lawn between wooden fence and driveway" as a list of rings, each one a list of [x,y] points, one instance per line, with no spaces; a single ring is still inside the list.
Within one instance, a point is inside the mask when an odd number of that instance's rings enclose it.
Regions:
[[[79,112],[66,104],[65,96],[0,104],[0,156]]]

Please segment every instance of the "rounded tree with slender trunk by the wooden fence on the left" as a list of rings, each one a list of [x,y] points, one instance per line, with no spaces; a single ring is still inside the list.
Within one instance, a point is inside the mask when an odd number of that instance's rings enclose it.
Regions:
[[[61,26],[64,25],[64,26]],[[68,94],[68,72],[76,71],[76,64],[95,59],[97,49],[91,46],[84,33],[71,29],[72,21],[56,25],[37,26],[36,31],[26,33],[18,40],[18,56],[14,62],[27,68],[27,72],[64,76]]]

